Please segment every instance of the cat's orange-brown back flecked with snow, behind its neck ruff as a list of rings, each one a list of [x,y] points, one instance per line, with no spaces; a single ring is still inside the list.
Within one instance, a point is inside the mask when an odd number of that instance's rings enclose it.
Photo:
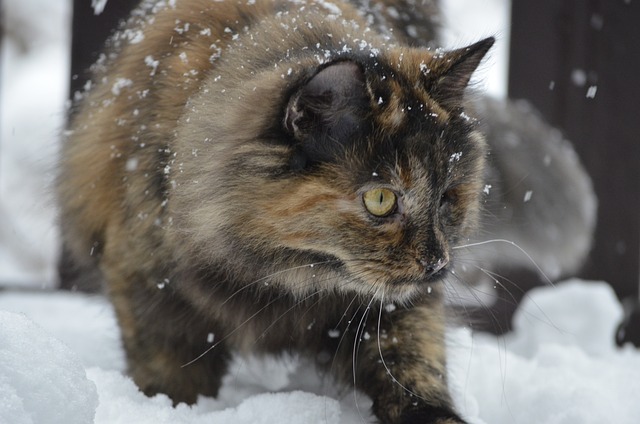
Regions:
[[[143,1],[76,96],[58,177],[67,247],[96,256],[108,232],[127,239],[164,223],[177,126],[207,78],[241,85],[312,41],[351,37],[347,21],[365,31],[348,2]]]

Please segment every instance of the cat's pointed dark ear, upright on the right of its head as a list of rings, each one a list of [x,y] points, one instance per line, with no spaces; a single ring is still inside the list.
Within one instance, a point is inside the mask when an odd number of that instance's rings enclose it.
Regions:
[[[462,49],[434,57],[429,62],[427,89],[445,109],[460,106],[471,75],[480,65],[495,38],[489,37]]]

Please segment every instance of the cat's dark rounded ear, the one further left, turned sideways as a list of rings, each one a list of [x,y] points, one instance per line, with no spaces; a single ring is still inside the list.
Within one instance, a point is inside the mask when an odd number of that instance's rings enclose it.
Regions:
[[[306,159],[330,161],[361,129],[367,106],[365,77],[354,62],[334,62],[289,100],[284,127]]]

